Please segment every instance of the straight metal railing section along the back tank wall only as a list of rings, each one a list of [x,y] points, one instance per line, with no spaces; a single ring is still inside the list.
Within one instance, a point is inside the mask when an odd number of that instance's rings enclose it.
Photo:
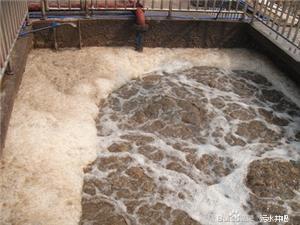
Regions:
[[[44,16],[51,11],[94,11],[134,10],[142,5],[146,11],[198,12],[218,18],[241,19],[247,10],[246,1],[240,0],[31,0],[30,4],[42,5]]]

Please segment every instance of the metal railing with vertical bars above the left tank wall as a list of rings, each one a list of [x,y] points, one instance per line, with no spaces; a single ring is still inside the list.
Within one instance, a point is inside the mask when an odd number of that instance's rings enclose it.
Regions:
[[[27,13],[26,0],[0,0],[0,80]]]

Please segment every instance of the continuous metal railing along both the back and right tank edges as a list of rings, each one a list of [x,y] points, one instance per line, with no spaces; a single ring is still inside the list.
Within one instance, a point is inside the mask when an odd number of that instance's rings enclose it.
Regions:
[[[142,5],[145,11],[167,12],[168,16],[197,13],[201,18],[261,22],[277,40],[288,42],[289,50],[300,48],[299,0],[31,0],[39,2],[44,17],[51,11],[134,10]],[[271,36],[271,33],[269,33]],[[281,44],[281,43],[280,43]]]

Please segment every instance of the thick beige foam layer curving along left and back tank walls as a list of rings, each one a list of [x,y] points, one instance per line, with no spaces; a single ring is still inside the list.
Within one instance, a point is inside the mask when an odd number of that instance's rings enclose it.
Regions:
[[[1,160],[3,224],[77,224],[82,169],[99,151],[100,99],[146,73],[193,66],[258,72],[300,105],[292,83],[264,57],[243,49],[33,50]]]

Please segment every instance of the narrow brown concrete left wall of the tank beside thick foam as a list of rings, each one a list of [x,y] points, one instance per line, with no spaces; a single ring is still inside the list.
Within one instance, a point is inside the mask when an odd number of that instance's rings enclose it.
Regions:
[[[30,28],[29,28],[30,29]],[[32,35],[16,41],[11,55],[12,75],[5,75],[1,83],[1,108],[0,108],[0,156],[5,145],[5,138],[9,120],[17,96],[22,76],[25,71],[28,53],[32,46]]]

